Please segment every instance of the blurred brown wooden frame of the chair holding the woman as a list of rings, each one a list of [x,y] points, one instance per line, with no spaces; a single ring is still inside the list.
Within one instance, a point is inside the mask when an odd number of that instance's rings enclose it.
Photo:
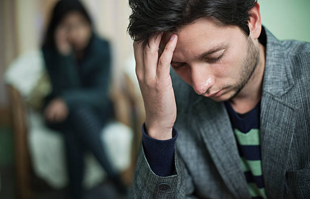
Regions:
[[[122,88],[112,89],[111,98],[114,103],[117,120],[134,130],[131,164],[122,174],[124,183],[130,185],[132,183],[137,152],[140,146],[144,108],[142,99],[135,96],[135,88],[131,79],[127,75],[124,76]],[[18,199],[30,199],[33,198],[33,189],[31,185],[31,161],[27,142],[27,107],[15,88],[8,86],[8,92],[14,131],[16,196]]]

